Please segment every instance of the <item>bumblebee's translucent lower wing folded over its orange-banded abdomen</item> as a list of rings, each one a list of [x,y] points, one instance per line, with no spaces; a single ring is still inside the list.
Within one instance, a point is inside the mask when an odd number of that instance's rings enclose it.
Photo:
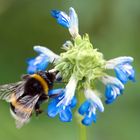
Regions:
[[[17,103],[14,106],[15,109],[13,110],[13,112],[11,112],[13,117],[16,119],[17,128],[20,128],[24,124],[29,122],[30,116],[32,115],[32,111],[38,99],[39,95],[27,95],[17,101]]]

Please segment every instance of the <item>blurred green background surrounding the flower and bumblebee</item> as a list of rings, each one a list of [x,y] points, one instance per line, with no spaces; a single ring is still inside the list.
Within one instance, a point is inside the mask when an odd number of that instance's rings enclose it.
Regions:
[[[15,82],[26,73],[26,59],[34,45],[60,53],[70,35],[50,16],[51,9],[74,7],[80,33],[89,33],[94,47],[106,59],[134,57],[136,82],[126,85],[125,94],[87,128],[87,140],[140,140],[140,0],[0,0],[0,83]],[[101,87],[101,91],[104,89]],[[45,108],[47,105],[44,104]],[[78,140],[76,119],[62,123],[45,114],[33,117],[18,130],[9,105],[0,102],[0,140]]]

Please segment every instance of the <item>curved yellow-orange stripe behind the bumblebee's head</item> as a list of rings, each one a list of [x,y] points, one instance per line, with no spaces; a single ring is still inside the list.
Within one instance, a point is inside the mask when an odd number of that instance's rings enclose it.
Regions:
[[[48,94],[49,87],[48,87],[47,82],[38,74],[33,74],[33,75],[31,75],[31,77],[33,77],[36,80],[38,80],[41,83],[41,85],[42,85],[42,87],[43,87],[43,89],[45,91],[45,94]]]

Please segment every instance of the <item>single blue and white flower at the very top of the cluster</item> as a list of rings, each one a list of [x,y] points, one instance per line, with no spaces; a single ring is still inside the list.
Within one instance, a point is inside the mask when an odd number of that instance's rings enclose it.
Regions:
[[[78,17],[75,10],[70,7],[69,15],[67,15],[63,11],[52,10],[51,15],[56,18],[57,23],[69,29],[72,37],[76,37],[79,35],[78,31]]]

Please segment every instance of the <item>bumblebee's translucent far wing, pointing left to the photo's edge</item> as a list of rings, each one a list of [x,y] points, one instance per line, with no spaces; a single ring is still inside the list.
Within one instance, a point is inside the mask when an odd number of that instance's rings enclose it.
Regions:
[[[0,86],[0,99],[10,102],[12,94],[18,99],[24,93],[25,81]]]

